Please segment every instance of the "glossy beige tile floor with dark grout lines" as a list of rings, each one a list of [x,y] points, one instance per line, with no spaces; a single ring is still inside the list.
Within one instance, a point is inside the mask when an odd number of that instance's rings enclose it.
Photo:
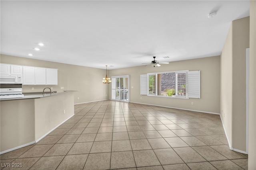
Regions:
[[[74,108],[38,143],[0,155],[1,170],[248,169],[248,156],[229,149],[219,115],[111,100]]]

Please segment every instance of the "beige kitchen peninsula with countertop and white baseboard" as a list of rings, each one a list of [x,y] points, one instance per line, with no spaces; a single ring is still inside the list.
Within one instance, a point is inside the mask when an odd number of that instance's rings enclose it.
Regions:
[[[72,117],[74,92],[1,99],[1,154],[40,141]]]

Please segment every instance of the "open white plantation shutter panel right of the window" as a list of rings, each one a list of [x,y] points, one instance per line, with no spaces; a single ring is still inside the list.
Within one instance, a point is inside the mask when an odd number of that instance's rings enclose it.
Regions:
[[[188,71],[188,98],[200,99],[200,70]]]

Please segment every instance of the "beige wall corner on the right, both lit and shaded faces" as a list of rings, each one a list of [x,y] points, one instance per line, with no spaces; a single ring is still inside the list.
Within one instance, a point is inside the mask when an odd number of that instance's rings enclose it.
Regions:
[[[220,113],[230,147],[246,152],[246,48],[250,18],[232,21],[220,59]]]

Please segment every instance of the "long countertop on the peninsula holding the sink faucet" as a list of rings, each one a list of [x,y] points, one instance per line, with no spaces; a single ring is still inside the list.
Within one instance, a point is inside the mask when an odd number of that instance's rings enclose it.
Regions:
[[[21,100],[21,99],[36,99],[36,98],[46,98],[46,97],[51,97],[51,96],[58,96],[58,95],[62,95],[62,94],[67,94],[67,93],[73,93],[76,92],[74,90],[66,90],[63,92],[57,92],[57,93],[47,93],[47,94],[24,94],[24,97],[22,98],[4,98],[4,99],[0,99],[0,101],[4,101],[4,100]]]

